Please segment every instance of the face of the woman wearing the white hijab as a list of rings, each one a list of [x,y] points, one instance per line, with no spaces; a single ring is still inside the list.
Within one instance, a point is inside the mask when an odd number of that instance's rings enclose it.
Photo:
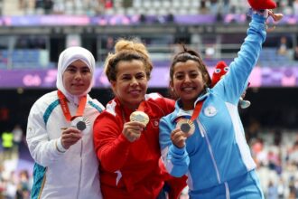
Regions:
[[[65,90],[71,95],[83,94],[92,81],[92,73],[85,62],[77,60],[70,63],[62,75]]]

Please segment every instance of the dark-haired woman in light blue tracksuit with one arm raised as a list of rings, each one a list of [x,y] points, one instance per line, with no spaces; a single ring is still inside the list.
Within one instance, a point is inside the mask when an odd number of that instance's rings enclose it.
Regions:
[[[266,17],[267,10],[253,12],[238,57],[212,89],[198,53],[184,48],[173,59],[170,85],[179,100],[160,121],[160,145],[167,171],[188,175],[191,198],[264,198],[237,103],[265,42]]]

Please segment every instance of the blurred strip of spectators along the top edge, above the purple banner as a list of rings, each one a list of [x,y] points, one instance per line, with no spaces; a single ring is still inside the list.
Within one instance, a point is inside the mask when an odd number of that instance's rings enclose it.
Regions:
[[[13,2],[4,0],[5,2]],[[276,0],[276,12],[298,15],[298,0]],[[237,0],[18,0],[22,14],[154,14],[153,9],[161,9],[161,14],[171,14],[175,6],[179,10],[196,8],[191,14],[243,14],[247,12],[247,1]],[[144,9],[146,8],[147,9]],[[135,8],[135,9],[132,9]],[[165,9],[163,9],[165,8]],[[139,13],[140,12],[143,13]],[[6,12],[6,13],[5,13]],[[9,15],[9,10],[3,10]],[[189,14],[189,13],[188,13]]]

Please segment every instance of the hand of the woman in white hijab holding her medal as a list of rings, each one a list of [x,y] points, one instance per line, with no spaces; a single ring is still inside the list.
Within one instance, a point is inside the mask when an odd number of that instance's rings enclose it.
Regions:
[[[81,137],[81,132],[77,128],[66,128],[62,131],[61,144],[65,149],[69,149],[70,146],[76,144]]]

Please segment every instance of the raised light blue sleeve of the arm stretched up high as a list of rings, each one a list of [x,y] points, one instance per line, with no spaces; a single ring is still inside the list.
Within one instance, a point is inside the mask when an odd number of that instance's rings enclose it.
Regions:
[[[223,100],[237,105],[239,97],[247,89],[249,75],[256,65],[265,37],[265,17],[253,14],[237,58],[230,63],[227,75],[213,89]]]

